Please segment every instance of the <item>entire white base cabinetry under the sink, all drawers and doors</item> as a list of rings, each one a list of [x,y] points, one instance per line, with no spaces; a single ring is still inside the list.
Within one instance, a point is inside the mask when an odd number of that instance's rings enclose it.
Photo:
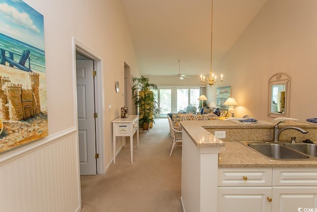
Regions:
[[[219,168],[218,212],[317,211],[316,168]]]

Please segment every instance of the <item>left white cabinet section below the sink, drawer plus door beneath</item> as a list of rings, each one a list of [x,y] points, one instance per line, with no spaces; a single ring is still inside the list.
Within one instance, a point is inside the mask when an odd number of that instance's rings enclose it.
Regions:
[[[219,168],[218,212],[271,212],[272,168]]]

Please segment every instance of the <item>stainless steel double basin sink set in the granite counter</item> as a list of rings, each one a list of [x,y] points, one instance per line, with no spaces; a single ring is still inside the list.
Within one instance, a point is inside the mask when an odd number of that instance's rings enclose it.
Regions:
[[[317,144],[240,141],[270,160],[317,160]]]

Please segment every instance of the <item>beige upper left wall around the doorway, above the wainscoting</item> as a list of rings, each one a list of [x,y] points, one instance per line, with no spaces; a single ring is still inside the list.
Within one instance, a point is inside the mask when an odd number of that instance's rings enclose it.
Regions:
[[[26,0],[44,15],[46,71],[48,84],[49,134],[76,126],[72,37],[103,58],[105,95],[105,164],[112,158],[111,121],[124,106],[124,62],[132,75],[139,68],[120,0]],[[116,93],[115,81],[121,89]],[[131,90],[131,89],[128,89]],[[57,104],[58,103],[58,104]],[[111,105],[111,111],[108,111]],[[102,117],[100,117],[102,118]]]

